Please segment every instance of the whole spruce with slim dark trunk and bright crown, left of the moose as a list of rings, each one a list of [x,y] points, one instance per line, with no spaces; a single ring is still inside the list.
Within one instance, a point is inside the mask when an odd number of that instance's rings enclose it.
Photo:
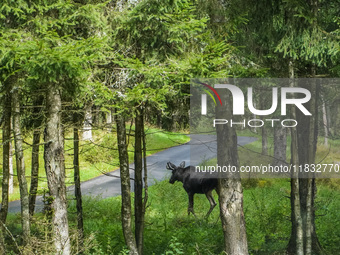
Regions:
[[[116,70],[117,80],[123,70],[127,74],[123,86],[119,84],[114,88],[120,97],[116,100],[117,110],[127,113],[126,109],[130,109],[130,117],[135,119],[134,239],[129,234],[130,224],[127,219],[123,219],[123,229],[129,228],[123,231],[125,241],[129,242],[127,245],[132,249],[130,252],[134,252],[135,242],[138,253],[143,252],[144,214],[147,202],[147,196],[143,197],[143,187],[147,185],[147,183],[143,185],[143,170],[144,176],[147,175],[146,162],[144,161],[143,165],[142,160],[145,109],[147,106],[156,111],[165,108],[164,101],[170,88],[167,75],[169,72],[168,57],[180,56],[188,41],[191,40],[190,36],[197,34],[203,27],[203,22],[192,14],[191,8],[192,6],[187,1],[162,1],[161,5],[159,1],[141,1],[131,10],[123,10],[113,23],[114,42],[119,43],[114,48],[125,52],[114,61],[113,70]],[[122,126],[120,127],[122,130]],[[117,132],[119,132],[118,126]],[[121,139],[121,141],[124,140]],[[122,146],[118,149],[123,148]],[[122,162],[120,165],[123,167]],[[125,178],[128,178],[127,174]],[[129,185],[129,182],[126,180],[123,182],[123,179],[121,181],[123,190],[123,186]],[[128,187],[124,186],[124,189]],[[127,192],[125,194],[129,195]],[[125,196],[122,196],[122,199],[122,203],[129,203]],[[126,208],[122,208],[124,209]]]

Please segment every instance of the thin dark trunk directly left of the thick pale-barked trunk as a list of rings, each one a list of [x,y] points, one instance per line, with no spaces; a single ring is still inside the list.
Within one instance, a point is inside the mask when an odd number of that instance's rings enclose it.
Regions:
[[[38,190],[39,146],[40,146],[39,144],[40,144],[40,130],[36,129],[33,132],[31,187],[29,193],[29,212],[31,216],[34,214],[35,199],[37,197]]]

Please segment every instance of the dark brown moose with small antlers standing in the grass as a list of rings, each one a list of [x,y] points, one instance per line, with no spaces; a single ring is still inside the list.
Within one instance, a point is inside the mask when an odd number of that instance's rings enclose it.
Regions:
[[[169,182],[171,184],[174,184],[176,181],[182,182],[183,188],[188,193],[188,215],[192,213],[196,217],[194,212],[194,195],[205,194],[210,203],[210,209],[205,216],[205,218],[208,218],[216,206],[212,191],[217,188],[217,179],[202,176],[202,173],[196,172],[193,166],[185,167],[184,161],[178,167],[168,162],[166,168],[172,171]]]

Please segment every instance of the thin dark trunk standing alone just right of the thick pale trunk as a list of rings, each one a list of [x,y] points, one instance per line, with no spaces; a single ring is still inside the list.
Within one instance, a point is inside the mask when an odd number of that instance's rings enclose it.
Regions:
[[[73,168],[74,168],[74,195],[77,201],[77,227],[78,227],[78,247],[83,246],[84,224],[83,224],[83,205],[80,187],[80,171],[79,171],[79,130],[78,116],[74,114],[73,128]]]

